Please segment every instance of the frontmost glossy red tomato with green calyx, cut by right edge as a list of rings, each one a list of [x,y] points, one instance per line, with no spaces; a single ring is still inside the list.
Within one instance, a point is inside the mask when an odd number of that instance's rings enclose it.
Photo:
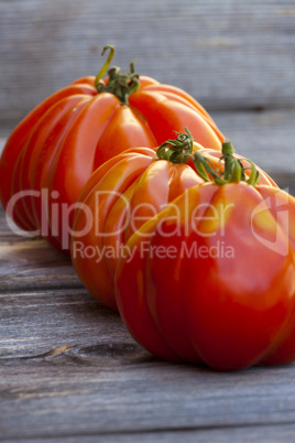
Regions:
[[[225,143],[223,143],[225,144]],[[114,275],[133,337],[170,360],[236,370],[295,358],[295,198],[196,153],[207,182],[127,241]],[[209,175],[208,175],[209,174]]]

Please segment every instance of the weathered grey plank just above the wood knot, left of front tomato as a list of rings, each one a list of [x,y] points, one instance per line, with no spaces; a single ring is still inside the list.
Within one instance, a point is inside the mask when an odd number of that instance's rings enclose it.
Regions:
[[[81,355],[111,357],[121,346],[121,352],[134,350],[135,358],[136,345],[119,314],[103,307],[85,289],[30,291],[24,285],[19,292],[1,289],[0,361],[44,359],[79,344],[85,347]]]

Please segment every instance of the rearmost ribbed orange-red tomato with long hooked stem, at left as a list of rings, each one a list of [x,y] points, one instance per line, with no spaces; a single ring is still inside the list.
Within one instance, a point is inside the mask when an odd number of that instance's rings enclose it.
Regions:
[[[189,125],[195,139],[220,149],[223,136],[184,90],[108,66],[46,98],[10,136],[0,161],[2,205],[23,229],[69,249],[75,203],[91,173],[128,148],[155,148]]]

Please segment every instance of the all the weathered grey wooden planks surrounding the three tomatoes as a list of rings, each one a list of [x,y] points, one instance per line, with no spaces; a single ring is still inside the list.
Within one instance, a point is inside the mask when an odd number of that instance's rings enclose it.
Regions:
[[[295,195],[294,0],[0,0],[0,152],[40,100],[96,74],[110,43],[116,65],[136,58],[186,89]],[[219,374],[156,359],[2,210],[0,317],[0,441],[294,441],[294,365]]]

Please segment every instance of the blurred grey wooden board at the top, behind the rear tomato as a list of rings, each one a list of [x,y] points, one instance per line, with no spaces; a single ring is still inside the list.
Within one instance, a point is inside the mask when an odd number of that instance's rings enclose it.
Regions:
[[[294,0],[0,0],[0,121],[116,65],[184,88],[209,110],[295,104]]]

